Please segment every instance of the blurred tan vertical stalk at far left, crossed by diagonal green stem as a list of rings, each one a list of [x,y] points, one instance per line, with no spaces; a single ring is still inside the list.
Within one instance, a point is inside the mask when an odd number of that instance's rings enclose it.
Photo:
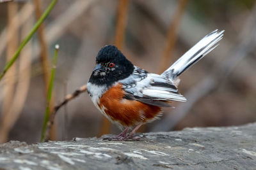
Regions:
[[[12,59],[13,54],[15,53],[15,48],[17,48],[18,43],[18,27],[16,26],[19,21],[13,22],[12,18],[16,15],[18,11],[18,5],[16,3],[8,3],[8,34],[10,41],[8,41],[7,46],[7,55],[6,55],[6,61]],[[13,36],[12,36],[13,35]],[[12,36],[12,38],[10,38]],[[16,73],[16,64],[14,64],[12,67],[10,67],[9,75]],[[12,108],[12,101],[13,101],[13,94],[15,90],[15,76],[10,76],[10,78],[4,80],[4,101],[3,101],[3,114],[1,115],[1,131],[0,131],[0,143],[4,143],[7,141],[8,134],[10,131],[10,128],[12,125],[10,122],[12,122],[12,119],[9,119],[8,113],[10,113],[10,108]],[[10,121],[8,121],[10,120]]]

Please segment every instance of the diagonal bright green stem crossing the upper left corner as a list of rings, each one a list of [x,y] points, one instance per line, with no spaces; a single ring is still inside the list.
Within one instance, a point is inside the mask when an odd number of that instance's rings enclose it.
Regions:
[[[52,8],[55,6],[57,1],[58,0],[52,0],[51,4],[49,4],[48,8],[44,11],[43,15],[36,22],[36,24],[34,25],[33,29],[31,30],[31,32],[29,32],[29,35],[26,37],[26,39],[24,39],[24,41],[22,41],[22,43],[20,44],[18,50],[13,55],[12,59],[10,61],[8,61],[7,64],[4,66],[3,71],[0,73],[0,81],[2,80],[4,74],[8,71],[8,69],[15,62],[15,60],[17,60],[17,58],[19,57],[19,54],[20,54],[22,48],[24,48],[24,46],[28,43],[28,41],[31,39],[33,34],[35,34],[36,30],[42,24],[42,22],[44,22],[45,18],[49,15],[49,13],[51,12]]]

